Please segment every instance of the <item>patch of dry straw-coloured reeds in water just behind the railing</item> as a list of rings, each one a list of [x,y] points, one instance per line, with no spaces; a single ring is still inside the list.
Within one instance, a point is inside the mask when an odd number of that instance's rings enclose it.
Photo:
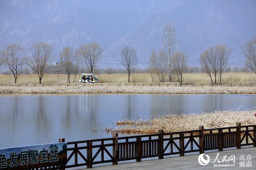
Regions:
[[[236,122],[241,125],[252,125],[256,123],[254,114],[256,110],[245,111],[214,111],[201,114],[181,114],[164,115],[155,118],[124,119],[117,121],[117,127],[105,128],[107,133],[125,133],[125,134],[152,134],[158,133],[159,129],[164,132],[179,132],[187,130],[196,130],[200,125],[204,129],[218,127],[236,126]]]

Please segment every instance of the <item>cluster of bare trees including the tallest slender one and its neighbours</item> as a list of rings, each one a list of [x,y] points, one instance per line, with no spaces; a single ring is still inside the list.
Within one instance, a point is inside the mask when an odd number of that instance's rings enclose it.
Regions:
[[[150,76],[154,81],[154,74],[157,75],[160,82],[164,82],[168,76],[171,82],[176,75],[182,84],[182,76],[188,64],[188,57],[182,51],[179,51],[179,43],[176,42],[176,31],[172,24],[163,28],[162,48],[155,52],[152,50],[149,58]],[[167,74],[168,72],[168,74]]]

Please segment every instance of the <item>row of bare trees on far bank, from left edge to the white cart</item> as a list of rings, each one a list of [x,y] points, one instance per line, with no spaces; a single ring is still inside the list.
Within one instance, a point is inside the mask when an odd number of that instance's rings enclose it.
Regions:
[[[97,43],[81,45],[79,49],[73,50],[72,47],[65,46],[60,52],[62,66],[67,73],[67,82],[70,83],[70,75],[74,73],[73,82],[76,82],[76,76],[85,63],[90,73],[101,55],[101,46]],[[0,51],[0,66],[7,67],[14,75],[14,82],[23,71],[25,64],[33,70],[39,77],[41,84],[42,78],[50,68],[53,62],[52,46],[47,43],[34,43],[29,47],[29,57],[25,55],[25,50],[21,44],[10,44]]]

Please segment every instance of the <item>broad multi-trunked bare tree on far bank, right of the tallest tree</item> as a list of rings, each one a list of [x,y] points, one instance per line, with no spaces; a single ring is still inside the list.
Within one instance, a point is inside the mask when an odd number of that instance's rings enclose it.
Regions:
[[[231,48],[227,50],[226,45],[219,44],[215,47],[211,46],[201,53],[200,62],[202,70],[210,76],[212,84],[217,85],[221,83],[221,74],[226,67],[231,52]],[[214,76],[214,81],[211,75]]]

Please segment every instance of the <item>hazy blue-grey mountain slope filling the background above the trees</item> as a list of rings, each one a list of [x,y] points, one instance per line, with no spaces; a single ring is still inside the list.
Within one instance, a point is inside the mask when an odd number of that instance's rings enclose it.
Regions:
[[[120,64],[120,49],[137,49],[138,64],[148,65],[152,49],[161,47],[162,28],[173,23],[176,40],[199,66],[203,50],[224,43],[233,48],[230,66],[243,66],[241,45],[256,35],[256,1],[190,0],[3,0],[0,1],[0,49],[34,42],[53,46],[53,55],[63,46],[79,47],[97,42],[104,52],[99,65]]]

